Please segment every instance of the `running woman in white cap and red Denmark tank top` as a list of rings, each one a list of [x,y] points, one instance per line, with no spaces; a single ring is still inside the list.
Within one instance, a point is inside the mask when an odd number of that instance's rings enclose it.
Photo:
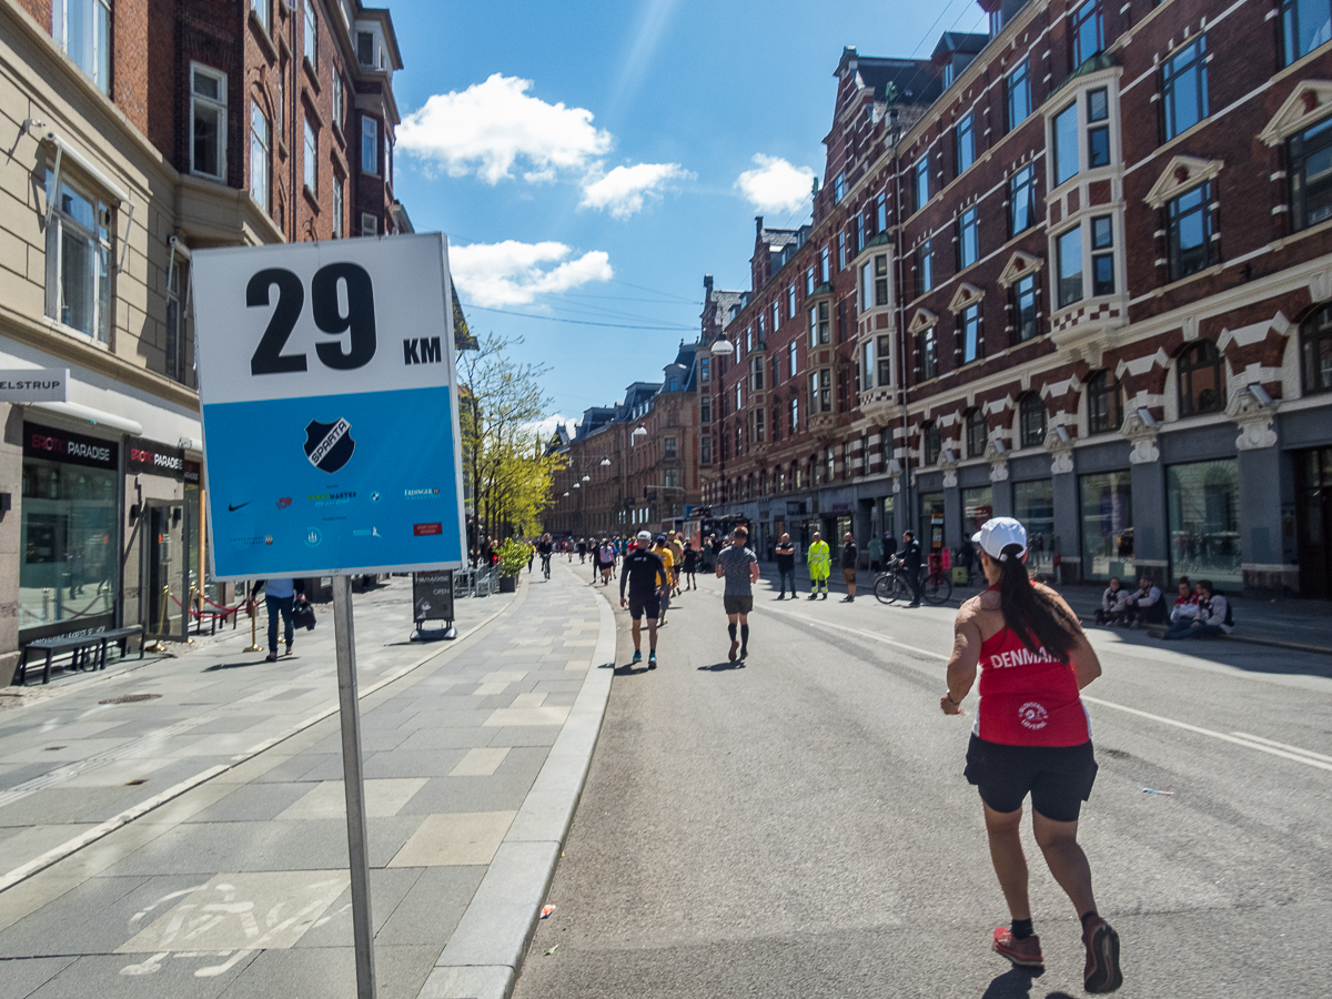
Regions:
[[[988,519],[972,542],[990,585],[958,610],[939,707],[960,714],[979,665],[980,703],[964,774],[980,791],[990,858],[1012,915],[1011,926],[995,930],[992,946],[1014,964],[1044,966],[1019,835],[1030,793],[1036,843],[1082,919],[1083,987],[1114,992],[1124,980],[1119,935],[1096,912],[1091,866],[1078,844],[1078,814],[1096,779],[1079,691],[1100,675],[1100,662],[1068,605],[1028,578],[1027,531],[1018,521]]]

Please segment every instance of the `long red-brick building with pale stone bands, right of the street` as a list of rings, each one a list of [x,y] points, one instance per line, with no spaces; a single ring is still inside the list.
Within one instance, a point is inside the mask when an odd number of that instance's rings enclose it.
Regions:
[[[843,53],[813,222],[759,224],[726,328],[707,497],[862,546],[1012,514],[1063,579],[1329,595],[1309,4],[984,5],[928,61]]]

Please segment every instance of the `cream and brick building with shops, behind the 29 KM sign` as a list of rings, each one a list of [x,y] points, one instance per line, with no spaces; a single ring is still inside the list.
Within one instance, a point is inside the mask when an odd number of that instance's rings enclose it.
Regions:
[[[388,11],[0,0],[0,682],[45,635],[178,637],[206,539],[193,249],[410,229]]]

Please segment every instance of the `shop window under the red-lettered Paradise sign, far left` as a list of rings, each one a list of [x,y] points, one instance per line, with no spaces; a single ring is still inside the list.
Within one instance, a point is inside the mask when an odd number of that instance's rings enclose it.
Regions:
[[[23,453],[20,638],[109,627],[119,595],[119,446],[25,424]]]

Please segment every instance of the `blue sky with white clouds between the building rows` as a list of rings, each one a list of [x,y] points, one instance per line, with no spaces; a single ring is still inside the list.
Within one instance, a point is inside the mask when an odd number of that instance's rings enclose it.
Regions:
[[[946,29],[984,31],[975,0],[392,11],[397,196],[449,234],[473,330],[523,337],[566,417],[661,377],[697,337],[705,273],[749,286],[755,214],[809,218],[843,45],[928,55]]]

